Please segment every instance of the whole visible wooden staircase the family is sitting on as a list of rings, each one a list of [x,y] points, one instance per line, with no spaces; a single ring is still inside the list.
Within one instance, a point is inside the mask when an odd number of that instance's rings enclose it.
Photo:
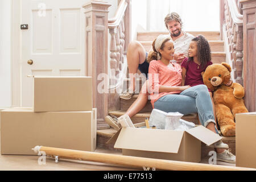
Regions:
[[[224,52],[224,41],[220,40],[220,32],[200,32],[200,31],[193,31],[189,32],[190,34],[197,36],[197,35],[203,35],[205,38],[207,38],[210,48],[212,51],[212,61],[213,63],[221,63],[226,62],[226,53]],[[137,40],[141,42],[141,44],[144,46],[147,52],[151,51],[151,45],[153,40],[160,34],[168,34],[167,31],[165,32],[138,32],[137,34]],[[129,78],[127,78],[124,81],[124,84],[128,84]],[[137,79],[139,89],[141,88],[143,82],[140,79]],[[129,109],[131,104],[137,99],[138,95],[134,95],[130,100],[123,100],[120,99],[120,106],[121,110],[117,111],[110,111],[109,114],[115,115],[116,117],[119,117],[123,114],[125,114],[126,110]],[[150,103],[150,100],[148,100],[146,106],[134,117],[131,118],[133,123],[140,123],[144,122],[145,118],[150,118],[150,113],[152,111],[152,106]],[[197,125],[200,125],[200,122],[197,119],[196,114],[190,114],[185,115],[182,117],[186,121],[193,122]],[[106,142],[117,132],[117,130],[114,130],[113,128],[105,129],[105,130],[97,130],[97,147],[102,148],[108,148],[110,150],[116,150],[113,148],[113,144],[106,144]],[[223,137],[222,138],[224,143],[229,144],[229,147],[232,149],[233,154],[236,153],[236,137]],[[202,144],[201,148],[201,156],[205,157],[208,156],[209,151],[213,150],[210,147],[207,147],[205,144]]]

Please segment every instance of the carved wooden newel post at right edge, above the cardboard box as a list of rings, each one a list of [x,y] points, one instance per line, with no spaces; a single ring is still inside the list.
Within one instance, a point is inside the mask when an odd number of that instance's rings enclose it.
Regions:
[[[243,86],[245,105],[256,111],[256,1],[240,0],[243,11]]]

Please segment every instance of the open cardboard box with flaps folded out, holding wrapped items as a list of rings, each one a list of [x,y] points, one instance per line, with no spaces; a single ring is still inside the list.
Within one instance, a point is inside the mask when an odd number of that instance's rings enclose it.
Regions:
[[[124,127],[109,143],[115,142],[114,148],[121,148],[123,155],[200,162],[201,142],[210,145],[220,139],[204,126],[187,131]]]

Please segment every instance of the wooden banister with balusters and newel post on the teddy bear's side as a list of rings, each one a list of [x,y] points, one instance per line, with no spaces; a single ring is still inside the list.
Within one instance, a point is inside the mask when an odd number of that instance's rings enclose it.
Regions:
[[[223,3],[223,0],[220,0]],[[225,0],[224,23],[227,57],[232,64],[233,78],[245,88],[245,105],[249,111],[256,110],[256,1]]]

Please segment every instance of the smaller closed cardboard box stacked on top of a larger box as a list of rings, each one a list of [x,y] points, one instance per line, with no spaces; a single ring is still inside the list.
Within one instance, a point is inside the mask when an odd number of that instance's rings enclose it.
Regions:
[[[41,111],[92,110],[92,77],[34,76],[33,107]]]

